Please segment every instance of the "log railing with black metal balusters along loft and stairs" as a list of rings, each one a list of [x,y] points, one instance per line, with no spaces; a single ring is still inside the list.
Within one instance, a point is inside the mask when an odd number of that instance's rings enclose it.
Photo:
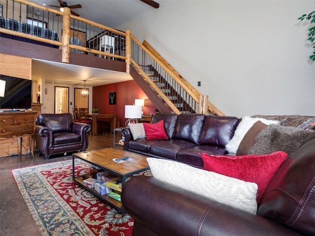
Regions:
[[[8,1],[7,1],[8,2]],[[60,12],[59,10],[50,9],[45,6],[37,5],[35,3],[32,3],[27,0],[11,0],[12,3],[12,14],[14,14],[14,3],[20,3],[18,7],[20,7],[19,10],[19,16],[21,22],[21,7],[22,5],[26,5],[28,7],[35,8],[37,11],[42,11],[43,14],[43,20],[44,21],[44,14],[48,14],[48,20],[49,20],[49,14],[53,14],[51,18],[53,18],[52,23],[48,23],[49,26],[52,25],[53,29],[59,31],[58,35],[62,35],[61,41],[51,40],[39,36],[29,35],[27,33],[18,32],[10,29],[3,29],[0,28],[0,32],[20,36],[24,38],[29,38],[32,40],[40,41],[49,43],[52,45],[57,45],[63,50],[63,56],[62,61],[65,63],[69,63],[69,56],[71,49],[78,50],[80,52],[86,52],[92,53],[95,55],[99,55],[99,57],[104,58],[112,58],[112,59],[120,59],[126,61],[126,72],[129,73],[129,66],[132,64],[136,70],[143,76],[144,79],[150,84],[151,87],[153,87],[158,95],[161,97],[161,99],[167,104],[167,106],[176,114],[181,113],[181,111],[174,105],[174,103],[168,99],[168,97],[155,85],[152,80],[148,77],[146,72],[142,69],[141,65],[139,65],[136,60],[137,52],[134,51],[134,46],[132,44],[137,44],[141,50],[143,50],[146,55],[149,55],[150,58],[154,60],[154,63],[157,63],[160,68],[162,68],[165,73],[167,73],[168,76],[172,78],[176,82],[177,85],[180,86],[181,91],[177,91],[178,94],[183,94],[183,91],[185,93],[185,96],[189,97],[189,101],[185,101],[185,104],[189,104],[191,111],[189,112],[196,112],[197,109],[195,106],[198,106],[199,103],[201,103],[201,97],[202,95],[194,89],[165,59],[163,59],[147,42],[144,42],[144,45],[142,45],[133,35],[131,35],[130,30],[126,30],[126,32],[112,29],[110,27],[103,26],[101,24],[97,24],[95,22],[89,21],[87,19],[77,17],[74,15],[71,15],[70,9],[65,7],[64,12]],[[6,6],[6,11],[8,9],[8,6]],[[29,14],[28,12],[26,14]],[[3,14],[2,14],[3,15]],[[54,18],[55,15],[61,16],[62,22],[57,22],[57,20]],[[4,17],[7,17],[4,15]],[[8,17],[7,17],[8,18]],[[14,17],[13,17],[14,18]],[[59,19],[59,18],[58,18]],[[45,18],[46,20],[46,18]],[[56,23],[55,23],[56,22]],[[57,29],[54,29],[54,24],[58,26],[58,24],[62,24],[62,30],[60,30],[58,27]],[[76,28],[74,27],[76,25]],[[48,27],[51,28],[51,27]],[[72,29],[71,29],[72,28]],[[90,35],[90,44],[88,47],[70,44],[69,39],[71,36],[70,30],[76,30],[78,32],[84,31]],[[60,32],[61,31],[61,32]],[[101,35],[108,35],[108,37],[119,37],[122,40],[122,45],[124,45],[124,48],[122,50],[119,50],[119,54],[115,54],[115,47],[114,46],[112,53],[111,52],[103,52],[99,48],[99,50],[96,50],[94,47],[91,47],[91,39],[95,39],[96,42],[99,40]],[[86,38],[85,38],[86,40]],[[88,41],[87,41],[88,42]],[[118,45],[119,47],[122,47],[121,44]],[[99,46],[100,47],[100,46]],[[124,55],[125,54],[125,55]],[[176,89],[176,88],[173,88]],[[181,95],[182,97],[185,97]],[[190,101],[193,100],[193,101]],[[195,104],[195,105],[194,105]],[[215,106],[213,106],[211,103],[208,103],[208,112],[213,115],[223,115]]]

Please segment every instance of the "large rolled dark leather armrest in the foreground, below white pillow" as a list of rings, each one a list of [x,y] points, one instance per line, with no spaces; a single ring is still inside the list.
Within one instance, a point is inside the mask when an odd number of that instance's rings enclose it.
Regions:
[[[275,221],[195,196],[154,177],[132,177],[124,185],[126,213],[159,236],[298,236]]]

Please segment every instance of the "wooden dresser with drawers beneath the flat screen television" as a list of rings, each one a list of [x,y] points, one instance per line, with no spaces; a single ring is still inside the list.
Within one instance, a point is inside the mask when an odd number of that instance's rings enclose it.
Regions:
[[[22,154],[22,142],[24,137],[31,137],[30,150],[34,155],[34,134],[35,134],[35,117],[37,112],[3,112],[0,113],[0,142],[1,142],[1,156],[2,146],[10,148],[7,140],[18,140],[18,154]],[[23,145],[24,146],[24,145]],[[25,146],[24,146],[25,147]],[[13,147],[14,148],[14,147]],[[9,151],[9,149],[8,149]]]

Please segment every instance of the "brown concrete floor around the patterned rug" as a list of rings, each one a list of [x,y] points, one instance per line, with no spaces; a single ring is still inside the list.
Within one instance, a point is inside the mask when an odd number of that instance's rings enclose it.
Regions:
[[[112,148],[113,134],[89,135],[88,150]],[[0,236],[40,236],[38,227],[16,185],[10,170],[63,160],[69,155],[59,155],[46,160],[44,156],[17,155],[0,157]]]

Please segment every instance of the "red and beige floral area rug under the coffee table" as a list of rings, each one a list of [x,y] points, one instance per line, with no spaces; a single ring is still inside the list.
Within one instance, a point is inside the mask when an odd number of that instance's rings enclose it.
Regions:
[[[91,164],[75,160],[75,175]],[[72,181],[72,160],[11,171],[43,236],[131,236],[133,219]],[[140,173],[151,176],[150,171]]]

